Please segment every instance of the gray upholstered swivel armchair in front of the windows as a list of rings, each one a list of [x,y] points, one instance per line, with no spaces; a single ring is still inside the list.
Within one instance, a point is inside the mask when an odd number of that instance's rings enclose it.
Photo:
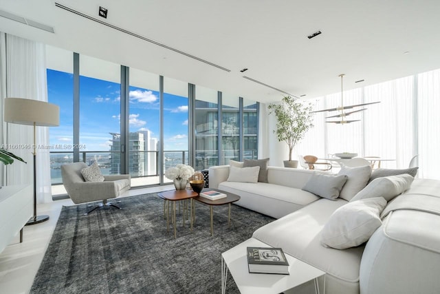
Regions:
[[[104,205],[120,209],[115,204],[107,202],[107,199],[118,198],[129,191],[130,175],[110,175],[104,176],[104,182],[86,182],[81,174],[81,169],[85,167],[87,165],[84,162],[61,165],[63,185],[72,201],[78,204],[102,200],[102,204],[84,213],[85,215]]]

